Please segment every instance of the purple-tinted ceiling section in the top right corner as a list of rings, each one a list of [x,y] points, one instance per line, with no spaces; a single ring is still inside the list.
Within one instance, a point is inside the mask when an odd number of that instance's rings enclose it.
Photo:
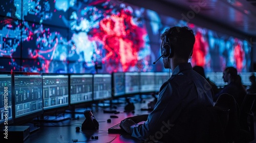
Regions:
[[[256,0],[162,0],[256,37]]]

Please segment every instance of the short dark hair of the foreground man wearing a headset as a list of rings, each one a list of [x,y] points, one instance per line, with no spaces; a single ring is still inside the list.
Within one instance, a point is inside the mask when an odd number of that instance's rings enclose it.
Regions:
[[[196,40],[193,30],[189,27],[172,27],[167,28],[161,35],[162,40],[165,35],[170,40],[172,52],[182,59],[190,57]]]

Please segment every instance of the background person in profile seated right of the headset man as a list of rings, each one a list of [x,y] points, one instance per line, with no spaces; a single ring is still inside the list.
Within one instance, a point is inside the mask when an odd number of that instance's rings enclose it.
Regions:
[[[223,80],[227,82],[227,85],[217,94],[215,94],[214,100],[216,101],[222,93],[228,93],[234,97],[239,107],[241,107],[244,97],[246,96],[246,90],[242,85],[241,78],[239,79],[238,70],[234,67],[226,67],[223,71]]]

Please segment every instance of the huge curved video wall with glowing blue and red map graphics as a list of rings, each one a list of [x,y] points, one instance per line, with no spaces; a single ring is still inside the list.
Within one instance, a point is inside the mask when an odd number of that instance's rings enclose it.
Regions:
[[[0,22],[0,58],[10,61],[1,70],[95,73],[100,63],[98,73],[167,71],[153,62],[161,56],[161,33],[173,26],[194,30],[193,66],[245,72],[251,65],[245,39],[119,1],[4,0]]]

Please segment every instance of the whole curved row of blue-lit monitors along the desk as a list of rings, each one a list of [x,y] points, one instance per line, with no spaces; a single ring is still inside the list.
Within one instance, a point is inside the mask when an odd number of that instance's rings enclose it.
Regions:
[[[169,73],[41,74],[0,72],[0,126],[26,123],[49,110],[157,92]]]

